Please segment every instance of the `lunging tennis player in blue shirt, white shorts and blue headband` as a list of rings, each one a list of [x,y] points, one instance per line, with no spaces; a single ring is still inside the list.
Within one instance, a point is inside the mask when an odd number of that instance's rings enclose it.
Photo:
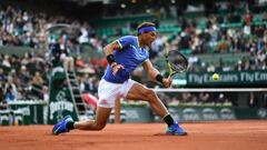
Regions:
[[[171,78],[164,78],[149,60],[147,47],[150,47],[157,38],[155,23],[144,22],[138,26],[137,32],[137,37],[121,37],[103,48],[109,66],[98,87],[96,120],[75,122],[70,116],[67,116],[53,127],[53,134],[69,132],[72,129],[102,130],[109,120],[116,99],[121,97],[127,100],[149,102],[154,111],[167,123],[167,134],[187,134],[172,119],[154,90],[130,79],[132,71],[142,64],[149,77],[161,82],[164,87],[170,87],[172,81]]]

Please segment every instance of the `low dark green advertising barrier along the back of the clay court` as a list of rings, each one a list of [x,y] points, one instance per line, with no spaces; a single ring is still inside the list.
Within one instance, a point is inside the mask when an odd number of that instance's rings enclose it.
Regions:
[[[9,110],[0,110],[0,124],[46,124],[47,103],[37,101],[17,101],[9,103]],[[170,106],[170,113],[180,122],[216,121],[216,120],[243,120],[267,119],[266,108],[237,108],[227,104],[179,104]],[[90,113],[88,118],[93,119]],[[115,114],[110,116],[110,122],[115,121]],[[122,104],[120,122],[159,122],[161,119],[155,116],[147,104]]]

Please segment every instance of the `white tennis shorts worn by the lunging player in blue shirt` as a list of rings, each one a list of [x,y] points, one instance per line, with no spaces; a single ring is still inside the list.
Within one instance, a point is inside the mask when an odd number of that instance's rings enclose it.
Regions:
[[[129,79],[123,83],[111,83],[101,79],[98,87],[98,106],[113,108],[116,99],[126,98],[136,81]]]

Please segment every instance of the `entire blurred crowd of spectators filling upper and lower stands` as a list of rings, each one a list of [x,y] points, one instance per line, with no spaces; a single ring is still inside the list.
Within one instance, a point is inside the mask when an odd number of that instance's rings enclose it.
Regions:
[[[267,21],[267,13],[261,13],[261,21]],[[266,23],[255,24],[254,13],[248,11],[245,14],[230,13],[227,17],[210,16],[204,17],[205,28],[198,28],[197,20],[179,18],[177,23],[181,31],[172,40],[167,40],[171,49],[191,50],[189,57],[189,71],[229,71],[266,69],[267,52],[267,28]],[[241,22],[241,28],[228,28],[221,24]],[[68,23],[78,32],[67,30],[57,36],[47,34],[47,29],[57,23]],[[157,22],[160,23],[160,22]],[[0,6],[0,46],[29,47],[32,49],[47,49],[55,43],[59,43],[60,49],[69,57],[81,54],[81,44],[89,44],[93,50],[101,51],[107,44],[107,37],[97,34],[96,29],[87,22],[70,20],[66,17],[52,17],[42,12],[33,13],[13,7]],[[118,34],[121,36],[121,34]],[[166,37],[164,34],[154,42],[151,53],[152,61],[162,53]],[[49,47],[47,47],[49,46]],[[231,53],[250,52],[249,58],[239,60],[235,66],[227,66],[224,62],[218,64],[207,64],[201,62],[199,53]],[[0,100],[2,103],[31,99],[48,101],[48,79],[51,52],[46,56],[27,52],[23,57],[0,56]],[[99,78],[107,66],[106,59],[81,60],[79,57],[73,61],[77,69],[91,68],[91,73],[78,74],[80,90],[82,92],[97,93]],[[171,102],[207,102],[209,93],[182,93],[180,98],[171,99]],[[212,98],[218,102],[228,102],[222,94]]]

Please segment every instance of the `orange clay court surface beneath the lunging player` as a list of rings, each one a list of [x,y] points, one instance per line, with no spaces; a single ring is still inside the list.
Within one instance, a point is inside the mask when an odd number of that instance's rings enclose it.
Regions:
[[[0,150],[267,150],[267,120],[181,126],[189,136],[165,136],[164,123],[108,124],[59,136],[51,134],[52,126],[0,127]]]

